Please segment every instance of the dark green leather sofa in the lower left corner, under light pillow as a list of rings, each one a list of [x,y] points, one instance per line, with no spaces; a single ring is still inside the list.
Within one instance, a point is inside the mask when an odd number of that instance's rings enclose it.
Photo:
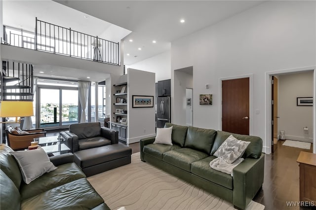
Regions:
[[[25,184],[10,151],[0,145],[1,210],[110,210],[73,162],[72,153],[51,157],[57,169]]]

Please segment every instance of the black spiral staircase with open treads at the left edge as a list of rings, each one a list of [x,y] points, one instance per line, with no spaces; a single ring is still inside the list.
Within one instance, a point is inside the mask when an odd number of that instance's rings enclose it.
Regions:
[[[0,101],[33,101],[33,66],[2,61],[0,73]],[[6,119],[2,118],[2,122]],[[5,124],[2,124],[2,143],[6,142]]]

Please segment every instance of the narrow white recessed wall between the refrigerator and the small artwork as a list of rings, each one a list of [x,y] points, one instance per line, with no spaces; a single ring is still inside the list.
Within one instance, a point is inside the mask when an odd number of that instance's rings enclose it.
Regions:
[[[186,112],[187,112],[187,88],[193,88],[193,76],[182,70],[174,71],[174,92],[176,93],[176,100],[172,102],[172,93],[171,93],[171,104],[176,105],[175,109],[171,108],[171,122],[178,125],[186,125]],[[172,86],[172,84],[171,84]],[[172,88],[171,88],[172,89]],[[196,97],[197,99],[197,97]],[[177,116],[174,117],[173,116]]]

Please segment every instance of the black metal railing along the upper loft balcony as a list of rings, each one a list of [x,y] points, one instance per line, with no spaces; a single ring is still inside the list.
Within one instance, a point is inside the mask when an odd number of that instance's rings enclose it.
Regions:
[[[9,36],[4,37],[4,43],[119,65],[119,43],[40,21],[37,18],[34,37],[9,32]]]

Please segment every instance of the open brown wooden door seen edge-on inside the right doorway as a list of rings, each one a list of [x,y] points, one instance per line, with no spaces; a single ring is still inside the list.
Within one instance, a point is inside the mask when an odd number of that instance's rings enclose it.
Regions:
[[[278,122],[278,116],[277,116],[277,78],[275,76],[272,76],[272,142],[271,142],[271,151],[276,151],[277,148],[277,122]]]

